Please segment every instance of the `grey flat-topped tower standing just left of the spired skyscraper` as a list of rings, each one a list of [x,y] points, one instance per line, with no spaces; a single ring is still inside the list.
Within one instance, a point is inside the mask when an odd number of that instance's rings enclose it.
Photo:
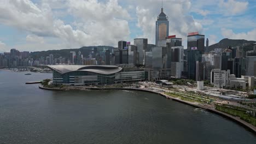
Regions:
[[[138,63],[137,66],[145,65],[146,49],[148,47],[148,39],[134,39],[134,45],[137,46]]]

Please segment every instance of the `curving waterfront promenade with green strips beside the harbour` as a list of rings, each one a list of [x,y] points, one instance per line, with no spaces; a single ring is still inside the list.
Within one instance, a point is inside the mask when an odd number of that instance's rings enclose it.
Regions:
[[[184,103],[184,104],[188,104],[194,107],[198,107],[201,109],[205,109],[207,111],[216,113],[220,116],[223,116],[225,118],[229,118],[234,122],[237,122],[238,124],[243,125],[244,127],[248,128],[249,130],[253,131],[254,134],[256,134],[256,127],[254,127],[252,124],[247,123],[245,121],[243,121],[242,119],[240,119],[239,117],[235,117],[232,115],[229,115],[228,113],[224,113],[222,111],[218,111],[215,109],[215,107],[213,105],[202,105],[200,103],[193,103],[190,101],[185,101],[182,100],[180,98],[175,98],[175,97],[171,97],[170,95],[165,94],[166,92],[173,92],[170,90],[166,90],[166,89],[161,89],[161,88],[136,88],[136,87],[84,87],[84,86],[80,86],[80,87],[63,87],[63,88],[46,88],[43,87],[42,85],[39,85],[39,88],[41,89],[46,89],[46,90],[51,90],[51,91],[68,91],[68,90],[85,90],[85,89],[91,89],[91,90],[108,90],[108,89],[121,89],[121,90],[131,90],[131,91],[144,91],[144,92],[150,92],[150,93],[155,93],[155,94],[159,94],[162,97],[165,97],[167,99],[172,99],[175,101],[179,101],[180,103]]]

